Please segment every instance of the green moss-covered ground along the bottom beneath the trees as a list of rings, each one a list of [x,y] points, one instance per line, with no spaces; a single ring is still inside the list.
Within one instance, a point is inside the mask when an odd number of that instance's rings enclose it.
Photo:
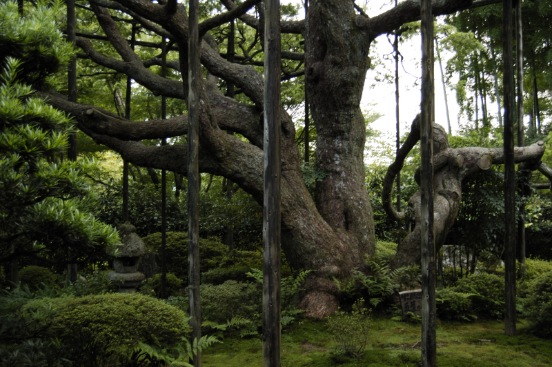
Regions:
[[[282,366],[420,366],[421,325],[373,317],[368,346],[359,360],[337,356],[326,321],[304,319],[282,332]],[[501,321],[438,322],[437,366],[552,366],[552,340],[540,339],[517,322],[517,336],[504,335]],[[206,367],[262,366],[260,336],[227,336],[205,350]]]

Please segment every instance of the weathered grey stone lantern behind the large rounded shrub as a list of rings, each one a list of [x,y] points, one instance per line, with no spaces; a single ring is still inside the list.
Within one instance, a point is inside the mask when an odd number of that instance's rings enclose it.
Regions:
[[[117,292],[132,293],[144,280],[144,274],[138,271],[138,266],[140,257],[146,253],[146,246],[136,234],[136,227],[128,221],[119,226],[119,235],[123,245],[117,249],[113,260],[115,271],[108,274],[108,279],[117,286]]]

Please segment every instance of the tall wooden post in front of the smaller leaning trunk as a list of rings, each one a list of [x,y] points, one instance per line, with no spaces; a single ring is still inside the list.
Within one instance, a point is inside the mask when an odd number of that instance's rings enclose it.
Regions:
[[[422,366],[436,366],[435,244],[433,238],[433,16],[422,0]]]

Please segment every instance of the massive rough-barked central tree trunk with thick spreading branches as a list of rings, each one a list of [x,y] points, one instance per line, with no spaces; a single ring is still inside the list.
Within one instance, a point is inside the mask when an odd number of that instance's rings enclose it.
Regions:
[[[199,171],[232,180],[262,204],[264,134],[260,121],[264,119],[262,111],[266,108],[264,80],[260,72],[239,61],[238,57],[235,62],[229,62],[228,55],[221,54],[208,32],[237,18],[258,32],[264,32],[262,21],[246,14],[259,0],[246,0],[239,5],[231,0],[221,2],[226,10],[202,21],[198,28],[201,37],[199,59],[208,71],[207,77],[200,78],[197,90]],[[161,59],[140,59],[108,11],[108,8],[120,10],[141,27],[157,33],[159,39],[167,37],[178,50],[178,61],[167,65],[178,71],[188,70],[190,26],[184,4],[171,1],[172,5],[168,6],[147,0],[90,0],[90,4],[103,30],[98,36],[106,37],[118,54],[109,57],[95,48],[95,42],[100,40],[77,37],[77,47],[90,61],[127,75],[154,95],[188,98],[188,78],[182,78],[181,82],[149,70],[148,66],[161,65]],[[432,12],[433,15],[451,14],[471,6],[470,0],[435,1]],[[420,2],[416,0],[403,1],[396,8],[371,18],[359,14],[352,1],[313,0],[308,4],[306,21],[280,23],[282,33],[304,34],[305,37],[305,54],[282,50],[282,59],[306,60],[306,93],[311,122],[317,130],[315,159],[327,172],[317,183],[313,200],[299,171],[303,157],[295,143],[295,126],[290,115],[281,108],[281,244],[290,266],[317,270],[308,281],[302,301],[302,306],[312,311],[308,315],[322,317],[332,313],[337,307],[338,294],[332,277],[348,275],[353,268],[364,266],[364,255],[373,255],[373,212],[364,187],[366,133],[359,108],[368,70],[368,49],[375,37],[419,17]],[[217,88],[217,79],[233,83],[251,103],[225,97]],[[185,163],[188,146],[141,143],[141,139],[188,134],[187,115],[129,123],[101,108],[70,102],[55,92],[39,94],[48,97],[52,106],[74,116],[79,129],[97,143],[119,152],[125,160],[137,166],[188,174]],[[239,133],[248,141],[227,134],[225,130]],[[442,175],[452,173],[443,170]]]

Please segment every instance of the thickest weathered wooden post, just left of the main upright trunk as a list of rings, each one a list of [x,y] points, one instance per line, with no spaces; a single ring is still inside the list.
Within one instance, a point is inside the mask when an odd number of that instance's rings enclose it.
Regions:
[[[280,361],[280,2],[264,23],[263,366]]]

